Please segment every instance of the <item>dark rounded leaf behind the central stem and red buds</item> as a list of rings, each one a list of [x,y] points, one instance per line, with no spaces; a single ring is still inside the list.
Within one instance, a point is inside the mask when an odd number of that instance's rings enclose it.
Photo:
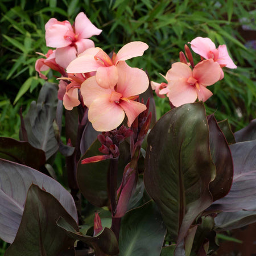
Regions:
[[[90,156],[102,155],[98,148],[101,143],[96,140],[92,146],[85,152],[80,160]],[[118,161],[118,187],[122,181],[123,170],[130,160],[129,145],[123,142],[119,145]],[[127,154],[128,152],[128,154]],[[77,183],[82,195],[93,205],[104,207],[109,205],[107,176],[110,160],[104,160],[97,163],[81,164],[77,166]]]

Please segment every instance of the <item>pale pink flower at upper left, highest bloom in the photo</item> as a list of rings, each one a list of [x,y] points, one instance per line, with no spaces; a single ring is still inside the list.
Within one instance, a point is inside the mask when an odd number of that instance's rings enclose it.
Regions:
[[[93,35],[100,35],[102,30],[95,27],[84,13],[76,16],[75,24],[71,26],[68,20],[59,22],[51,18],[46,23],[46,45],[56,47],[56,63],[67,68],[77,55],[85,49],[94,47]]]

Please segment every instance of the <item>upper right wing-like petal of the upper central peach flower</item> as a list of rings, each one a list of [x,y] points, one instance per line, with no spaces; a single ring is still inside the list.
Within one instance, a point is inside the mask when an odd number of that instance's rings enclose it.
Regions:
[[[135,41],[127,43],[121,49],[119,49],[117,56],[115,56],[114,64],[117,64],[121,60],[129,60],[133,57],[142,56],[144,51],[148,48],[146,43]]]

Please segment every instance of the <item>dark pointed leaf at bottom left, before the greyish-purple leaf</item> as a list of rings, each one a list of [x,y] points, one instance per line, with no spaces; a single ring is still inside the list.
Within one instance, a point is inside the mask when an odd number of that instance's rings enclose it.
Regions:
[[[18,233],[5,256],[75,255],[75,239],[56,225],[60,216],[79,230],[76,221],[55,197],[32,184]]]

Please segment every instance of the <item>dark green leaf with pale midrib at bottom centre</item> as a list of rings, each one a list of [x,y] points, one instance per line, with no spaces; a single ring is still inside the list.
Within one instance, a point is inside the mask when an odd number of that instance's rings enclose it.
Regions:
[[[130,210],[122,218],[119,255],[160,255],[165,234],[159,210],[151,200],[142,207]]]

